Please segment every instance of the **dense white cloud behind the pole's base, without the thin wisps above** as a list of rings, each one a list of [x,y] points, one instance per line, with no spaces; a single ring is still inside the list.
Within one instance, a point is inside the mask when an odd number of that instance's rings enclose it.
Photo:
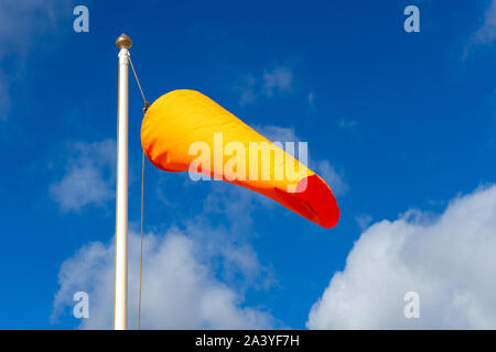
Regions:
[[[194,231],[201,231],[195,229]],[[129,323],[138,317],[139,235],[129,237]],[[112,241],[114,242],[114,241]],[[172,229],[165,237],[144,238],[141,327],[143,329],[267,329],[270,314],[242,307],[242,295],[215,277],[212,253],[201,242]],[[249,257],[244,261],[249,261]],[[241,272],[242,263],[240,263]],[[74,305],[73,295],[89,295],[89,319],[82,329],[109,329],[112,324],[114,243],[84,246],[62,264],[53,320]]]

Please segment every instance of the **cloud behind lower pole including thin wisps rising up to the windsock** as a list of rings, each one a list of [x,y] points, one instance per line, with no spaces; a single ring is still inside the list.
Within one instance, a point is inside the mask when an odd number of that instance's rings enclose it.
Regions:
[[[262,266],[249,244],[256,235],[252,191],[209,183],[204,209],[183,223],[144,237],[141,326],[144,329],[251,329],[280,326],[263,307],[247,307],[247,289],[273,286],[272,272]],[[224,187],[223,187],[224,186]],[[215,224],[212,215],[223,221]],[[160,228],[162,228],[160,226]],[[137,326],[139,234],[129,235],[129,323]],[[52,318],[67,314],[74,293],[89,294],[90,318],[83,329],[108,329],[112,321],[114,240],[94,242],[65,261]]]

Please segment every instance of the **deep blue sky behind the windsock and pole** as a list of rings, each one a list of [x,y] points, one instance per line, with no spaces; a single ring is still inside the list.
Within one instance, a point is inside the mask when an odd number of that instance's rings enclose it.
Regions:
[[[73,31],[76,4],[89,9],[89,33]],[[420,9],[420,33],[403,31],[409,4]],[[489,195],[496,179],[496,6],[490,1],[30,0],[1,4],[0,19],[2,329],[104,327],[108,321],[106,311],[104,322],[82,324],[71,316],[71,297],[87,290],[96,307],[108,301],[95,284],[99,276],[88,274],[100,264],[86,256],[95,252],[90,243],[107,250],[112,243],[114,42],[121,32],[134,42],[131,57],[148,100],[173,89],[200,90],[262,132],[308,141],[310,166],[337,187],[342,210],[335,229],[322,229],[233,185],[193,183],[148,163],[145,231],[153,233],[150,243],[165,249],[150,255],[160,258],[170,253],[169,245],[177,245],[203,273],[194,276],[197,285],[191,289],[220,287],[235,297],[227,299],[233,320],[217,322],[209,314],[197,320],[194,312],[171,308],[163,310],[164,321],[149,321],[150,328],[174,327],[174,321],[185,328],[229,327],[229,321],[346,328],[345,320],[342,326],[308,323],[309,312],[333,275],[345,271],[347,257],[351,263],[354,244],[364,243],[366,233],[375,239],[367,227],[380,229],[382,220],[417,230],[442,223],[450,200],[457,197],[463,206],[473,200],[465,195]],[[133,80],[129,87],[129,217],[136,231],[142,101]],[[422,220],[400,216],[410,209],[420,209]],[[466,218],[453,222],[462,221],[457,228],[463,228]],[[483,231],[487,243],[494,243],[492,226]],[[488,245],[474,240],[483,233],[474,231],[468,241]],[[433,238],[427,235],[425,248]],[[448,251],[443,248],[433,257]],[[114,263],[107,255],[111,251],[103,253],[103,262]],[[474,249],[467,257],[477,253]],[[61,272],[67,260],[71,265]],[[78,272],[85,263],[90,263],[87,272]],[[60,273],[66,276],[58,278]],[[446,297],[482,295],[467,282],[428,282],[431,288],[443,287]],[[157,306],[181,300],[173,293],[153,295]],[[484,307],[484,299],[476,301]],[[255,311],[252,320],[248,310]],[[91,317],[98,320],[96,308]],[[487,326],[468,314],[460,317],[461,327]],[[481,321],[494,324],[494,317]],[[444,327],[443,321],[421,327]]]

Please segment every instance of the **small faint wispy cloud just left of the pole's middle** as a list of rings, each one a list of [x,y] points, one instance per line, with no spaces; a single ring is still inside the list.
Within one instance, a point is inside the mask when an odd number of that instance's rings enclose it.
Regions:
[[[72,152],[66,174],[50,187],[50,195],[63,211],[105,206],[115,196],[116,142],[76,143]]]

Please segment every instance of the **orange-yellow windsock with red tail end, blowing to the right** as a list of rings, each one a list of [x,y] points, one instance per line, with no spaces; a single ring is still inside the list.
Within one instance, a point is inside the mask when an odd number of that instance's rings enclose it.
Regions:
[[[157,99],[143,118],[141,145],[160,169],[246,187],[324,228],[339,219],[319,175],[198,91],[173,90]]]

